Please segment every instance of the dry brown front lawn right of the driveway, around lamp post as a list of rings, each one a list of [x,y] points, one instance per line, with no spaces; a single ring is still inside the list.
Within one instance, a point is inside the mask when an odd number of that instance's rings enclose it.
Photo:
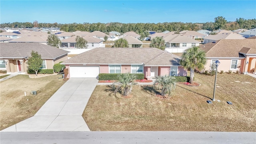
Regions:
[[[157,98],[151,86],[134,86],[131,98],[116,99],[100,85],[83,117],[92,131],[256,131],[256,78],[218,74],[215,98],[221,102],[213,104],[206,100],[212,98],[214,76],[196,73],[195,82],[201,86],[177,84],[170,99]]]

